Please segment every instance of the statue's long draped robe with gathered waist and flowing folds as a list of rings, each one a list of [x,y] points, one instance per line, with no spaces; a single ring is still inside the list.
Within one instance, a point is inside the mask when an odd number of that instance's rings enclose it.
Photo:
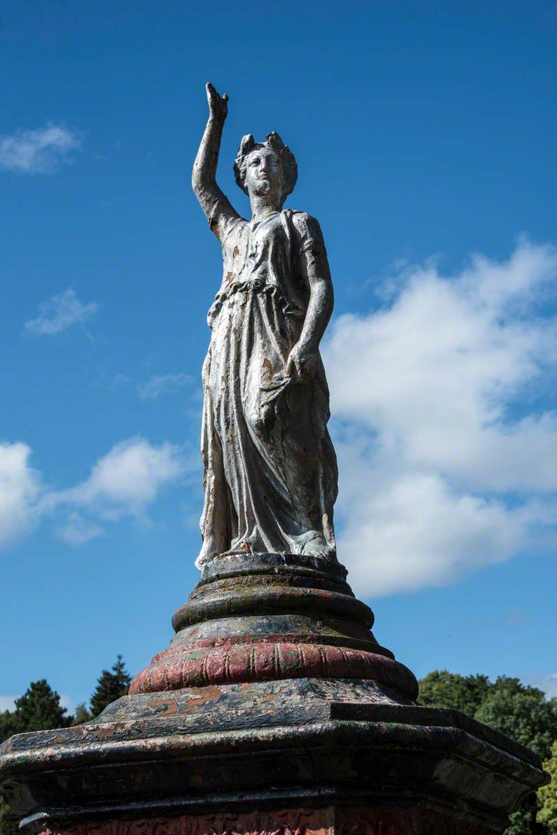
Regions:
[[[228,550],[334,559],[338,471],[324,367],[319,358],[303,382],[285,373],[308,309],[302,260],[327,265],[319,223],[291,210],[248,222],[221,205],[209,222],[223,284],[203,364],[201,531],[212,548],[202,561]]]

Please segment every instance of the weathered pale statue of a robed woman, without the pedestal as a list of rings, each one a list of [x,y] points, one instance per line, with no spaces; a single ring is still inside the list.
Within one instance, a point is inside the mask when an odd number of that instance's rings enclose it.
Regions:
[[[209,117],[192,185],[223,248],[203,363],[203,547],[336,559],[337,463],[319,342],[333,286],[319,223],[284,210],[298,169],[278,134],[244,136],[234,163],[252,219],[216,182],[228,96],[207,84]]]

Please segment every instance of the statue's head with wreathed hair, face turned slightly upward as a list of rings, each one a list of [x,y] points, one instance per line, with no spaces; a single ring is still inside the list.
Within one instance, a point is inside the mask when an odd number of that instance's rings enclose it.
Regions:
[[[234,176],[247,195],[268,196],[282,206],[298,180],[298,165],[278,134],[267,134],[265,142],[255,142],[248,134],[240,143]]]

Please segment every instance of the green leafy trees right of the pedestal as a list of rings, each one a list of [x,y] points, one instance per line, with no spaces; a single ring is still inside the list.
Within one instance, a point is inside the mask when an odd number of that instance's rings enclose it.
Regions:
[[[554,763],[554,793],[541,789],[538,796],[527,798],[519,812],[510,816],[505,835],[557,835],[557,700],[546,699],[543,691],[515,678],[500,676],[492,682],[487,676],[441,670],[419,682],[419,701],[456,708],[532,748],[540,757],[547,758],[554,751],[555,759],[549,760]]]

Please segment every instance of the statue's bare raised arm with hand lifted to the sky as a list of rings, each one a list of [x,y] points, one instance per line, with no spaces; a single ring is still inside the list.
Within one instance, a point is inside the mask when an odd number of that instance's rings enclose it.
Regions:
[[[217,185],[217,164],[223,127],[228,115],[228,95],[219,95],[213,84],[205,84],[209,115],[203,131],[198,154],[193,163],[192,188],[201,208],[207,215],[211,229],[220,238],[220,226],[226,219],[235,220],[238,214]]]

